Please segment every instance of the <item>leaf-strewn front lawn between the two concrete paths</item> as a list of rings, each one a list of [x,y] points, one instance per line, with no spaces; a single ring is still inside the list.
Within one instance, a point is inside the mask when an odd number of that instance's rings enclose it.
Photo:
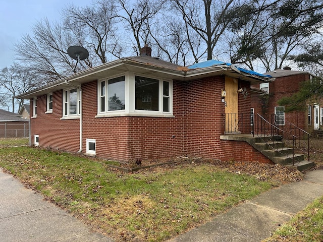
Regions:
[[[211,164],[122,173],[30,147],[0,149],[0,167],[117,241],[166,240],[273,186]]]

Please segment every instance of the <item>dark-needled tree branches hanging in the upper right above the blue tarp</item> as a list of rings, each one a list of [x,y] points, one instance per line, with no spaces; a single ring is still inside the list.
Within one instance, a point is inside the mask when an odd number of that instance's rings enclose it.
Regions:
[[[232,63],[280,69],[322,25],[317,1],[250,1],[235,11],[228,36]],[[238,17],[240,16],[240,17]],[[242,16],[242,17],[241,17]]]

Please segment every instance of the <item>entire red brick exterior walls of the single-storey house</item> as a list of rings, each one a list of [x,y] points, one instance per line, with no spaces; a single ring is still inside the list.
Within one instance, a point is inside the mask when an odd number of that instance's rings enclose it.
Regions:
[[[243,112],[246,117],[243,127],[248,133],[250,83],[239,80],[239,88],[246,88],[248,92],[246,98],[239,94],[239,112]],[[95,117],[97,81],[83,84],[82,152],[86,152],[86,139],[95,139],[97,157],[118,161],[189,155],[222,160],[269,162],[247,143],[220,139],[225,130],[222,89],[225,89],[224,76],[185,83],[175,80],[175,117]],[[31,118],[32,143],[34,134],[38,134],[40,147],[77,152],[80,119],[61,120],[62,95],[62,91],[53,93],[52,113],[45,113],[46,95],[38,97],[37,117]],[[32,100],[30,107],[32,109]]]

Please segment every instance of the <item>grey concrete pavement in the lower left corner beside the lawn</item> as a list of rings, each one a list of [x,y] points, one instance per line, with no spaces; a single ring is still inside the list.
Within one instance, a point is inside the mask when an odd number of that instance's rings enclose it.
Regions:
[[[0,169],[0,241],[112,242]]]

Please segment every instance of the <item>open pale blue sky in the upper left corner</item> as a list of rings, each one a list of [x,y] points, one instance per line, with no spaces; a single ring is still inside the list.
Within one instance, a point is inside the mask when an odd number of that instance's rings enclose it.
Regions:
[[[0,70],[15,61],[14,44],[41,19],[60,21],[61,10],[73,4],[83,7],[91,0],[0,0]]]

